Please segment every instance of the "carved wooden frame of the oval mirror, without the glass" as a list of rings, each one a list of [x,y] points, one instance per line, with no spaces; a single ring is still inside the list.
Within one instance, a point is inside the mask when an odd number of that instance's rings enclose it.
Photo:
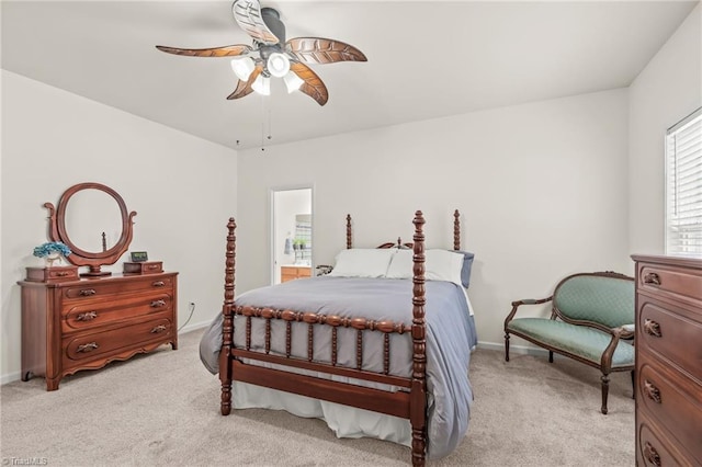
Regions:
[[[100,190],[114,198],[117,202],[117,206],[120,207],[120,213],[122,216],[122,235],[120,236],[120,240],[110,249],[106,248],[104,232],[102,232],[102,249],[103,251],[91,252],[84,251],[80,248],[76,247],[76,244],[68,237],[68,232],[66,230],[66,208],[68,206],[68,202],[70,197],[76,193],[82,190]],[[89,266],[90,270],[86,273],[80,274],[81,276],[102,276],[112,274],[110,271],[101,271],[101,266],[105,264],[114,264],[117,262],[120,257],[124,254],[125,251],[129,248],[129,243],[132,242],[132,236],[134,234],[133,224],[134,216],[136,216],[136,212],[133,210],[127,213],[127,207],[124,204],[124,200],[122,196],[110,186],[100,184],[100,183],[78,183],[64,192],[60,200],[58,201],[58,206],[54,207],[52,203],[44,203],[44,207],[48,209],[49,213],[49,230],[48,236],[52,241],[60,241],[64,242],[68,248],[70,248],[71,254],[66,258],[71,264],[77,266]]]

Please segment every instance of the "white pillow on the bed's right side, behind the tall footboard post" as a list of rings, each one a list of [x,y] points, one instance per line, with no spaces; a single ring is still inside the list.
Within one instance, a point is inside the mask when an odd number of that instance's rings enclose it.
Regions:
[[[412,250],[399,250],[395,253],[387,269],[387,278],[412,278]],[[428,281],[448,281],[461,284],[463,254],[446,250],[428,250],[424,252],[424,278]]]

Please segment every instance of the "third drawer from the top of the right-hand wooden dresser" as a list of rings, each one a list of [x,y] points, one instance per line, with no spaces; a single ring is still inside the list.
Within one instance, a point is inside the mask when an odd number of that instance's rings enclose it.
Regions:
[[[638,410],[676,433],[676,440],[702,463],[702,386],[639,352]]]

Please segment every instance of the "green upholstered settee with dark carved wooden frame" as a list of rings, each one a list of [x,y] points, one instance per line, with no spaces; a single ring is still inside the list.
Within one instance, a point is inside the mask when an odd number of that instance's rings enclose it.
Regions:
[[[551,318],[516,318],[522,305],[551,301]],[[634,383],[634,278],[613,272],[579,273],[558,283],[543,299],[512,301],[505,319],[505,360],[510,334],[575,358],[602,372],[602,413],[607,413],[609,375],[632,372]]]

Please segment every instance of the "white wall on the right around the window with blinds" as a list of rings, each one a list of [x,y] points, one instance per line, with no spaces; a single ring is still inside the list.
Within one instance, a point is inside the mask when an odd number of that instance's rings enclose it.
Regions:
[[[630,251],[665,251],[666,129],[702,105],[702,5],[630,87]]]

